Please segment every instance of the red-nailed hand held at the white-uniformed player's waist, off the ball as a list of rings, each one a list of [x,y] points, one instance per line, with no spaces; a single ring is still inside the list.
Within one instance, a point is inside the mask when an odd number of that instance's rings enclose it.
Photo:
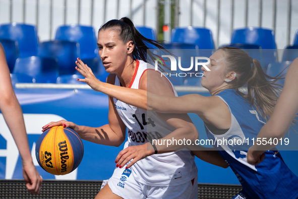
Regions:
[[[116,157],[116,167],[123,168],[129,161],[132,160],[132,162],[130,162],[130,164],[126,167],[126,169],[128,169],[137,161],[151,156],[152,154],[154,154],[154,151],[148,151],[147,144],[129,146],[122,150]]]

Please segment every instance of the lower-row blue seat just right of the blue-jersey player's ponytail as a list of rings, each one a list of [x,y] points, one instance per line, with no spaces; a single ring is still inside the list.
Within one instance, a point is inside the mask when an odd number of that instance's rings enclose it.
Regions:
[[[271,77],[276,77],[281,73],[281,75],[286,74],[288,70],[288,66],[291,64],[291,61],[285,61],[281,63],[271,63],[268,65],[266,74]],[[278,83],[282,84],[284,83],[284,79],[279,80]]]

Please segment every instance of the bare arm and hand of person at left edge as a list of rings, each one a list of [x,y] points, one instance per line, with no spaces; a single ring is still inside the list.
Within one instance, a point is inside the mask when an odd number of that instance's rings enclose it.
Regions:
[[[22,157],[23,177],[31,194],[38,194],[42,178],[36,170],[31,157],[23,112],[13,89],[5,52],[0,43],[0,110],[18,146]]]

